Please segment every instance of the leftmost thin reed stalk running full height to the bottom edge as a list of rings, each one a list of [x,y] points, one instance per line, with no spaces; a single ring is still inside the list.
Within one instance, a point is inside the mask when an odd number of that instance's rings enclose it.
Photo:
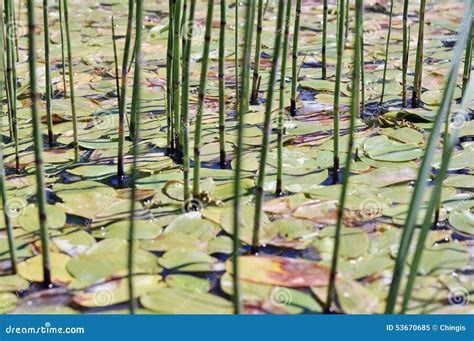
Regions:
[[[141,65],[142,65],[142,51],[141,51],[141,36],[142,36],[142,0],[136,0],[136,41],[137,51],[135,57],[135,72],[133,75],[133,93],[134,99],[132,105],[132,112],[135,113],[136,117],[136,132],[135,139],[133,141],[133,164],[132,164],[132,179],[131,179],[131,209],[130,209],[130,229],[129,229],[129,244],[128,244],[128,294],[129,294],[129,311],[130,314],[135,314],[136,302],[135,302],[135,288],[133,285],[133,262],[134,262],[134,246],[135,246],[135,200],[136,200],[136,179],[138,176],[138,153],[139,153],[139,134],[140,134],[140,95],[141,95]]]

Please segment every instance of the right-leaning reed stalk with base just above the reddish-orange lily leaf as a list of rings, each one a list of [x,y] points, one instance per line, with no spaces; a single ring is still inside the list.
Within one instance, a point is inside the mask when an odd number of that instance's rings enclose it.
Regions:
[[[270,71],[270,81],[268,83],[267,101],[265,102],[265,118],[263,122],[263,140],[262,140],[262,147],[260,149],[260,164],[259,164],[259,170],[258,170],[257,187],[255,189],[255,196],[256,196],[255,197],[255,216],[254,216],[253,236],[252,236],[252,251],[254,253],[258,251],[258,245],[259,245],[260,218],[262,215],[262,203],[263,203],[263,187],[265,185],[265,167],[267,165],[268,144],[270,141],[270,134],[271,134],[273,94],[274,94],[274,87],[276,83],[278,63],[280,61],[280,53],[281,53],[281,40],[282,39],[281,39],[280,32],[282,32],[284,13],[285,13],[285,2],[284,0],[279,0],[278,1],[278,15],[277,15],[277,30],[276,30],[277,34],[275,36],[275,46],[273,48],[272,69]]]

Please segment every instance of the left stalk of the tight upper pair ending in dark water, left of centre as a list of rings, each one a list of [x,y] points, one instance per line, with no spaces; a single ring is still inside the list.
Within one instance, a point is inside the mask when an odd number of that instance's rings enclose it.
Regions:
[[[173,132],[173,36],[174,36],[174,0],[168,1],[169,23],[168,23],[168,46],[166,52],[166,140],[169,151],[174,149]]]

